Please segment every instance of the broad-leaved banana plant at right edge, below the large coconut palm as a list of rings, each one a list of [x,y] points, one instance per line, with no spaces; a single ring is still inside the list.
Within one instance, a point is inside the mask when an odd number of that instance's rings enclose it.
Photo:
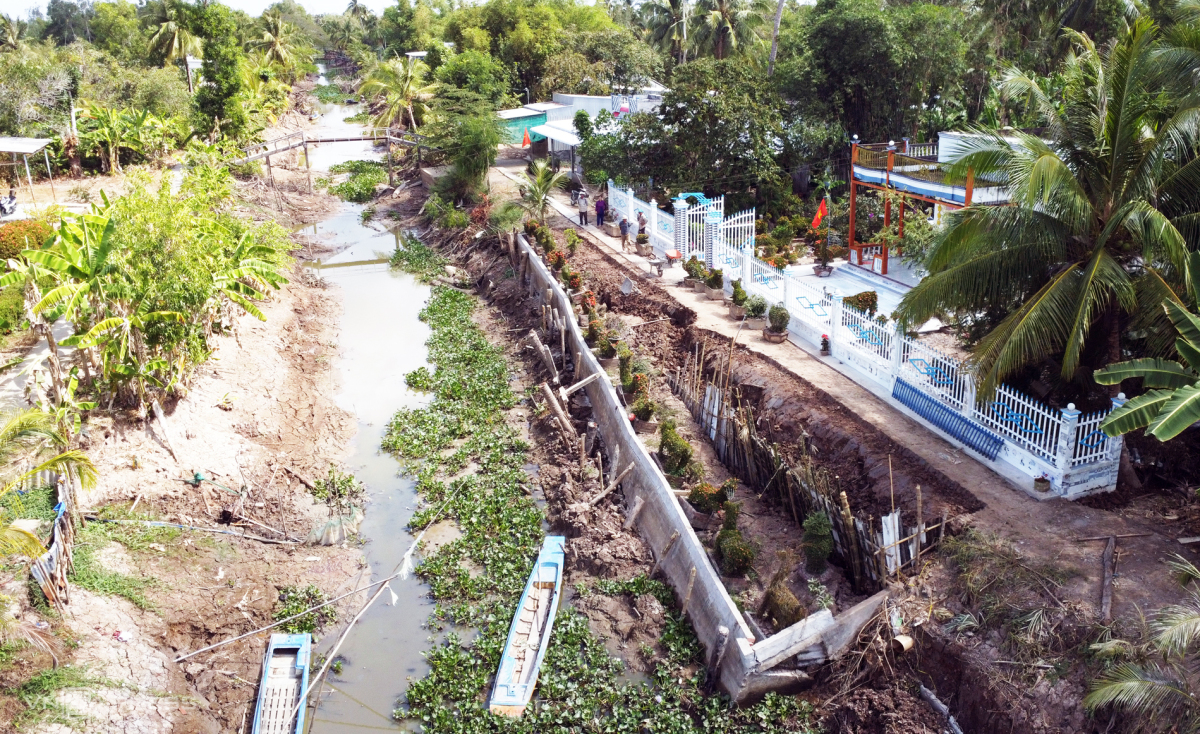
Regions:
[[[1188,255],[1186,276],[1188,293],[1200,309],[1200,252]],[[1100,385],[1141,378],[1146,387],[1146,393],[1115,409],[1100,423],[1100,429],[1110,437],[1145,428],[1147,434],[1168,441],[1200,421],[1200,317],[1177,297],[1166,299],[1163,309],[1175,327],[1175,351],[1182,361],[1141,357],[1094,372]]]

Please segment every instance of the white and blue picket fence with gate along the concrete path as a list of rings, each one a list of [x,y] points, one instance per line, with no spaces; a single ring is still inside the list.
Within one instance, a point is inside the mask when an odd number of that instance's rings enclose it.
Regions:
[[[650,212],[652,242],[656,253],[676,248],[684,258],[704,257],[704,222],[709,212],[724,216],[722,199],[702,199],[689,206],[677,200],[674,215],[646,203],[608,182],[610,201],[636,221]],[[834,357],[852,365],[872,386],[919,419],[970,450],[976,458],[1021,483],[1045,477],[1055,495],[1079,498],[1116,487],[1123,439],[1110,439],[1099,425],[1108,410],[1087,415],[1074,404],[1057,409],[1000,385],[985,401],[977,399],[974,379],[959,360],[920,343],[842,302],[841,294],[818,289],[811,278],[798,278],[754,257],[754,210],[722,218],[712,239],[710,267],[719,267],[726,283],[740,279],[751,295],[782,303],[792,314],[793,341],[820,345],[829,339]],[[659,228],[672,222],[673,229]],[[652,231],[650,227],[647,231]],[[667,236],[670,231],[673,236]],[[1124,402],[1124,395],[1114,407]]]

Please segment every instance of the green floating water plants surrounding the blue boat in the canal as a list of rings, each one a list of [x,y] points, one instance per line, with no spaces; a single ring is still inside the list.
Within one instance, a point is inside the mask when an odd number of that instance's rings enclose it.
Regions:
[[[426,652],[430,673],[409,686],[408,708],[394,716],[420,721],[431,734],[818,730],[812,706],[794,697],[768,696],[754,706],[734,708],[726,698],[701,694],[703,673],[682,669],[700,660],[701,648],[688,621],[673,612],[664,631],[668,661],[658,666],[649,685],[618,682],[622,661],[608,655],[587,618],[560,608],[535,703],[520,720],[496,717],[481,705],[541,547],[542,513],[522,492],[527,446],[504,421],[517,402],[509,368],[503,350],[472,321],[474,307],[467,294],[433,288],[421,312],[432,330],[432,368],[406,375],[406,384],[433,397],[426,408],[397,413],[383,446],[418,480],[424,507],[413,516],[412,529],[450,519],[462,530],[418,567],[437,600],[434,626],[469,625],[479,634],[468,644],[451,633]],[[479,467],[475,474],[443,481],[470,462]],[[472,576],[472,566],[484,572]],[[598,586],[605,592],[654,594],[674,604],[665,584],[644,577]]]

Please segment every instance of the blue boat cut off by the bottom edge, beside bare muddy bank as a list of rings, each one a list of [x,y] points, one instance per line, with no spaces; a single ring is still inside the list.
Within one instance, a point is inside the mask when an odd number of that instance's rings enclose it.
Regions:
[[[311,634],[272,634],[263,661],[263,679],[258,684],[252,734],[299,734],[304,732],[305,706],[296,709],[308,687]]]

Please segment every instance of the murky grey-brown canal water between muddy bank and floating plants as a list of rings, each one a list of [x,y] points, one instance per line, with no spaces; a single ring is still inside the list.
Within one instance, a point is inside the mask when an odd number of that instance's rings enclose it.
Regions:
[[[324,78],[322,78],[324,83]],[[359,112],[355,106],[326,106],[317,121],[323,130],[359,130],[344,118]],[[312,151],[314,170],[334,163],[376,160],[370,144],[337,143]],[[413,542],[408,521],[416,507],[414,482],[398,474],[397,462],[379,450],[389,419],[396,410],[418,407],[425,397],[404,386],[404,374],[426,363],[425,341],[430,331],[418,314],[430,289],[407,273],[391,271],[386,258],[397,236],[364,227],[362,206],[344,204],[332,217],[307,227],[320,240],[346,247],[311,265],[340,294],[343,313],[338,335],[341,392],[338,404],[358,419],[358,434],[347,469],[366,483],[370,503],[360,535],[367,568],[355,586],[371,578],[390,576]],[[344,664],[324,686],[312,717],[312,732],[402,730],[391,712],[402,699],[409,678],[427,670],[421,652],[428,646],[425,620],[433,610],[428,588],[415,576],[391,582],[396,601],[384,595],[355,625],[342,645]],[[317,646],[324,652],[336,634],[328,634]],[[332,688],[332,690],[330,690]]]

